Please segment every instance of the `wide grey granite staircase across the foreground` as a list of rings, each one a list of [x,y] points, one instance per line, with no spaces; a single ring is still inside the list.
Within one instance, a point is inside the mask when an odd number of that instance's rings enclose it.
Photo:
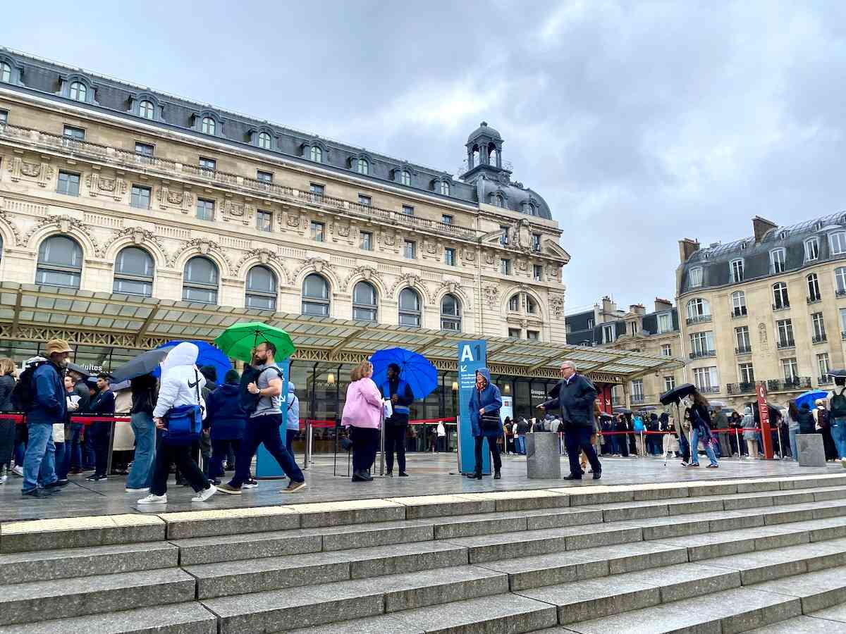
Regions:
[[[0,634],[846,631],[846,474],[0,526]]]

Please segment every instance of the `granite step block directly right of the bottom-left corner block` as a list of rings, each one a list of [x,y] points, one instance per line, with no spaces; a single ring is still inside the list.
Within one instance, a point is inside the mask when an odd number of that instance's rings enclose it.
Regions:
[[[475,566],[325,583],[202,604],[219,617],[219,634],[291,631],[452,601],[508,593],[508,577]],[[335,630],[338,631],[338,630]]]

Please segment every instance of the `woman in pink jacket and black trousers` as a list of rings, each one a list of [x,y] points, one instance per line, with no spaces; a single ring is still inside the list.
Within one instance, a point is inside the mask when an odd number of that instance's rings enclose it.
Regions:
[[[376,460],[379,424],[382,421],[382,395],[371,379],[373,366],[361,363],[350,374],[347,400],[341,423],[348,426],[353,441],[353,482],[372,482],[370,467]]]

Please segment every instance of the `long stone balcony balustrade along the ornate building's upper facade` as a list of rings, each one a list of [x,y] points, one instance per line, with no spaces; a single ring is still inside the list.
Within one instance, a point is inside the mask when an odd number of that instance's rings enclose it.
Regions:
[[[247,195],[254,195],[256,192],[261,192],[265,196],[270,194],[286,202],[294,201],[319,205],[323,208],[343,211],[343,213],[360,216],[364,219],[376,219],[394,225],[417,227],[449,235],[453,238],[473,239],[476,237],[474,229],[459,227],[450,222],[434,221],[418,216],[407,216],[401,211],[381,209],[371,205],[360,205],[349,200],[323,194],[312,194],[285,185],[267,183],[266,181],[260,181],[255,178],[240,176],[239,174],[209,170],[156,156],[140,155],[128,150],[91,143],[91,141],[70,139],[61,134],[51,134],[41,132],[40,130],[6,124],[0,126],[0,137],[57,150],[65,155],[87,157],[96,161],[111,163],[115,166],[134,167],[146,173],[158,173],[168,179],[181,177],[195,181],[199,180],[205,183],[217,183],[228,188],[243,190],[244,194]]]

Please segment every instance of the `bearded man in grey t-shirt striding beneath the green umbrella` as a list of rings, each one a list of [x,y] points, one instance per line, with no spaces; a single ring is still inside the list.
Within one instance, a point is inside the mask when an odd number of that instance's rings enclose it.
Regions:
[[[250,413],[244,442],[241,443],[239,456],[235,462],[235,476],[228,484],[221,484],[218,490],[231,495],[239,495],[241,486],[250,478],[250,463],[259,445],[276,458],[279,467],[290,478],[290,483],[282,493],[296,493],[305,489],[305,477],[297,463],[282,445],[279,428],[286,423],[282,413],[282,370],[274,362],[276,346],[271,342],[261,342],[253,352],[253,366],[258,369],[255,382],[247,385],[247,391],[259,400],[255,410]],[[286,425],[287,427],[287,425]]]

